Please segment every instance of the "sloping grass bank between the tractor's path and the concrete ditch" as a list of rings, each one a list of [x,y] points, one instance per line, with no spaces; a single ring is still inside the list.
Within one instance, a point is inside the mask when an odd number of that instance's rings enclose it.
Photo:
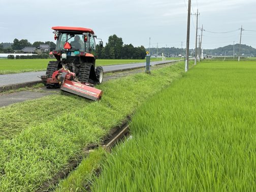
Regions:
[[[22,122],[18,131],[12,134],[11,140],[0,140],[1,190],[38,189],[43,182],[64,169],[70,159],[76,158],[84,146],[98,142],[153,93],[181,77],[183,68],[184,63],[180,62],[152,71],[151,75],[142,73],[108,81],[98,86],[104,91],[100,102],[83,104],[82,100],[74,102],[64,95],[51,95],[45,98],[45,101],[49,101],[47,106],[41,106],[44,103],[44,99],[41,99],[4,108],[1,114],[9,109],[10,115],[14,112],[19,116],[16,111],[20,108],[31,112],[26,112],[22,118],[16,117]],[[58,109],[62,110],[60,105],[65,111],[56,113]],[[45,111],[49,114],[52,108],[55,111],[44,120],[43,117],[47,116]],[[35,115],[32,112],[36,112]],[[34,120],[29,119],[34,116],[37,116]],[[19,120],[15,122],[19,123]],[[3,121],[4,130],[9,129],[11,133],[16,126],[15,122],[10,127],[5,127],[6,119]],[[8,132],[5,137],[9,137]]]

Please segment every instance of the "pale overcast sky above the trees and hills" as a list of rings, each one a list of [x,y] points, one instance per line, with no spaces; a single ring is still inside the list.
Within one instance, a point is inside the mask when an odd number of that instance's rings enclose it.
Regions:
[[[54,41],[52,26],[92,28],[104,44],[116,34],[124,44],[149,47],[181,47],[186,42],[187,0],[2,0],[0,42],[14,38]],[[217,48],[239,43],[256,48],[255,0],[191,0],[191,12],[199,9],[199,26],[203,31],[202,47]],[[195,47],[196,16],[191,16],[190,46]],[[199,30],[201,33],[201,30]]]

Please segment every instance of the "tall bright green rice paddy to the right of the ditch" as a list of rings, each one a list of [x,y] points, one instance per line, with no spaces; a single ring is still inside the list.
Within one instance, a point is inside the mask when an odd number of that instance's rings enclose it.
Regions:
[[[255,62],[200,63],[132,119],[92,191],[255,191]]]

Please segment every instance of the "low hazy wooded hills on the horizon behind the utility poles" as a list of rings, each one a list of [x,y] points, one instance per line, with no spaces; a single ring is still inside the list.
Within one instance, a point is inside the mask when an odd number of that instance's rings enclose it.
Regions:
[[[225,47],[219,47],[219,48],[216,48],[216,49],[204,49],[204,54],[207,54],[207,55],[225,55],[225,51],[226,51],[226,55],[229,56],[229,55],[232,55],[233,56],[233,45],[227,45]],[[147,51],[149,50],[148,48],[146,49]],[[182,55],[185,55],[186,54],[186,49],[183,48],[175,48],[175,47],[162,47],[162,48],[158,48],[157,50],[158,52],[158,55],[161,55],[162,53],[165,54],[165,56],[176,56],[176,55],[179,55],[182,53]],[[194,52],[195,54],[195,49],[190,49],[189,50],[189,54],[191,54],[191,52]],[[156,48],[150,48],[150,54],[151,55],[154,55],[156,54]],[[239,54],[239,44],[235,44],[235,55],[238,56]],[[251,47],[251,46],[248,46],[248,45],[243,45],[241,44],[241,51],[240,51],[240,54],[241,55],[244,55],[244,56],[256,56],[256,49]]]

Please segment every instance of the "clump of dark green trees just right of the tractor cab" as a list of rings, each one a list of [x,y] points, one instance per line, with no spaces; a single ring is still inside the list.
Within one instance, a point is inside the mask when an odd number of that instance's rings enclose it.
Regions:
[[[98,58],[101,59],[144,59],[146,50],[143,46],[134,47],[132,44],[123,44],[122,38],[112,35],[103,48],[96,46]]]

